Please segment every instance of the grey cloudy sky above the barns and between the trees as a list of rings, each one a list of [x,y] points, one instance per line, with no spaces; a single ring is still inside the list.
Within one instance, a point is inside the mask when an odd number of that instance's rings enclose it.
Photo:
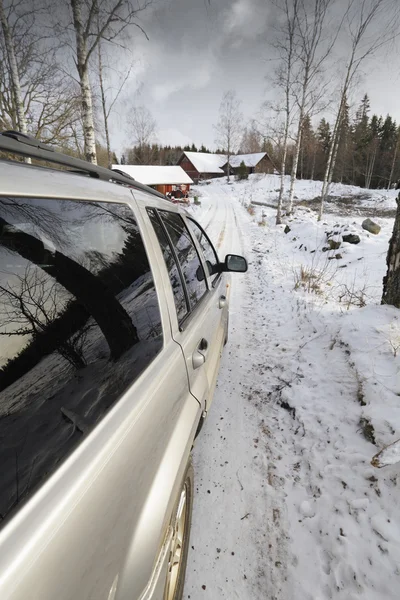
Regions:
[[[332,24],[346,2],[336,0]],[[131,46],[135,76],[113,127],[117,151],[129,144],[124,113],[130,103],[151,111],[158,141],[213,148],[213,123],[224,91],[236,90],[245,121],[258,113],[263,101],[274,100],[271,43],[278,31],[278,12],[271,0],[155,0],[140,21],[149,41],[136,31]],[[332,93],[346,48],[343,36],[330,61]],[[351,101],[358,103],[368,93],[372,111],[390,113],[400,121],[397,51],[385,50],[364,65]],[[324,116],[332,118],[332,113],[328,110]]]

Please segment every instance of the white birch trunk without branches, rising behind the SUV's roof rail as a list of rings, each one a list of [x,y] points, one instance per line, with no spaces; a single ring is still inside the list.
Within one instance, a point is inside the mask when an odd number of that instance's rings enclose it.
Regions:
[[[76,37],[76,66],[79,74],[79,83],[82,94],[82,121],[83,139],[85,144],[85,158],[97,164],[96,140],[94,136],[94,120],[92,105],[92,90],[90,88],[89,64],[87,42],[84,36],[84,27],[81,13],[82,0],[71,0],[74,29]]]

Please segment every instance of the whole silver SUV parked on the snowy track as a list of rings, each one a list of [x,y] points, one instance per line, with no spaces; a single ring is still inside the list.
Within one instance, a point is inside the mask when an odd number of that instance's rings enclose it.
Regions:
[[[0,598],[177,600],[246,261],[126,175],[0,150],[70,169],[0,162]]]

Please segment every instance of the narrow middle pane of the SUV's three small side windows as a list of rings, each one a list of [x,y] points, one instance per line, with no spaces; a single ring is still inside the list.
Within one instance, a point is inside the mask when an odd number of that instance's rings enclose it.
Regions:
[[[190,307],[193,309],[207,291],[199,255],[181,216],[165,210],[159,211],[159,215],[178,257],[189,294]]]

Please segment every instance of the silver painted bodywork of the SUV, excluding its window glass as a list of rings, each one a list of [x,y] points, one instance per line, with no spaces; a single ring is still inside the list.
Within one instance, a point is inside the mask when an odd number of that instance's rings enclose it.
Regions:
[[[0,531],[0,598],[162,600],[170,519],[226,335],[227,308],[218,307],[225,278],[214,287],[208,279],[209,291],[180,331],[146,206],[181,210],[142,191],[55,170],[0,161],[0,178],[1,196],[128,204],[150,261],[164,336],[151,364]],[[193,369],[202,337],[210,352]]]

